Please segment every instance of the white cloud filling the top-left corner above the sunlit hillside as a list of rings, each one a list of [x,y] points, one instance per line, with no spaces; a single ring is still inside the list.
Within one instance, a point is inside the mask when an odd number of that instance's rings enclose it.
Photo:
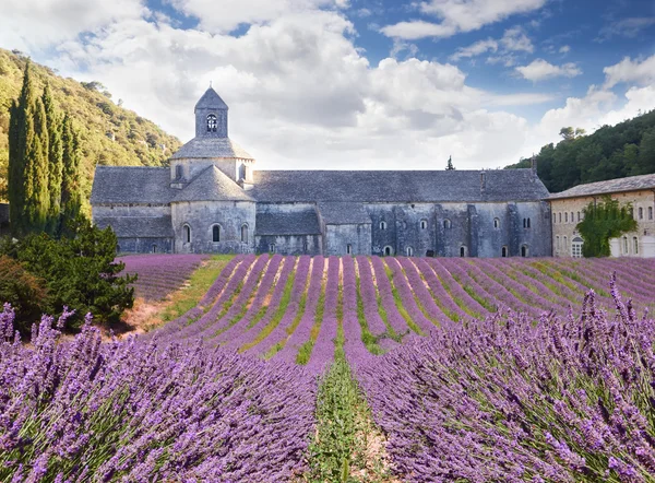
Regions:
[[[41,49],[83,32],[147,14],[145,0],[2,0],[0,45]]]

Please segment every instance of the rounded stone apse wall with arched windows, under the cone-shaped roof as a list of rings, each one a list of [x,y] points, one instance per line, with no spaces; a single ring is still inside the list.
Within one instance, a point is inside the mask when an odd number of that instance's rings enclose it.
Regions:
[[[175,251],[178,254],[246,254],[254,251],[254,214],[251,201],[183,201],[171,204]],[[213,240],[214,226],[219,241]],[[186,239],[184,226],[191,231]],[[246,226],[246,239],[241,239]]]

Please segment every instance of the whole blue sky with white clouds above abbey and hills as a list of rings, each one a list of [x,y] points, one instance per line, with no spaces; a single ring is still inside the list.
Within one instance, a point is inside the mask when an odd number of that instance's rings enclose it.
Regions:
[[[1,0],[0,47],[260,169],[500,167],[655,108],[652,0]]]

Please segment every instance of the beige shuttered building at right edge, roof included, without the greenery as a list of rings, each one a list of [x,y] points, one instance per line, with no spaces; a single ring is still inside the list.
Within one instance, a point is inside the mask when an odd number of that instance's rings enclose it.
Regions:
[[[609,240],[612,257],[655,257],[655,174],[577,185],[548,197],[552,212],[552,255],[582,257],[576,229],[584,209],[605,196],[632,205],[636,231]]]

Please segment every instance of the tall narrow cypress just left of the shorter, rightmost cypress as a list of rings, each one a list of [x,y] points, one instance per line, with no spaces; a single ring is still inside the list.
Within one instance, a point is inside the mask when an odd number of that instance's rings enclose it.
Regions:
[[[48,215],[46,231],[55,235],[59,231],[61,211],[61,181],[63,175],[63,146],[61,142],[62,120],[55,107],[50,86],[46,84],[41,97],[48,127]]]

